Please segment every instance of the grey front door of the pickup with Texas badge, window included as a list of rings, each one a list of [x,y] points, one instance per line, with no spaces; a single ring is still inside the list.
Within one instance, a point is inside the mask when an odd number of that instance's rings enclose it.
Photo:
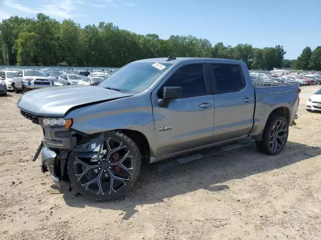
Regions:
[[[214,98],[206,65],[184,63],[152,93],[156,158],[178,155],[210,144],[214,130]],[[164,86],[180,86],[182,98],[167,107],[158,105]]]

